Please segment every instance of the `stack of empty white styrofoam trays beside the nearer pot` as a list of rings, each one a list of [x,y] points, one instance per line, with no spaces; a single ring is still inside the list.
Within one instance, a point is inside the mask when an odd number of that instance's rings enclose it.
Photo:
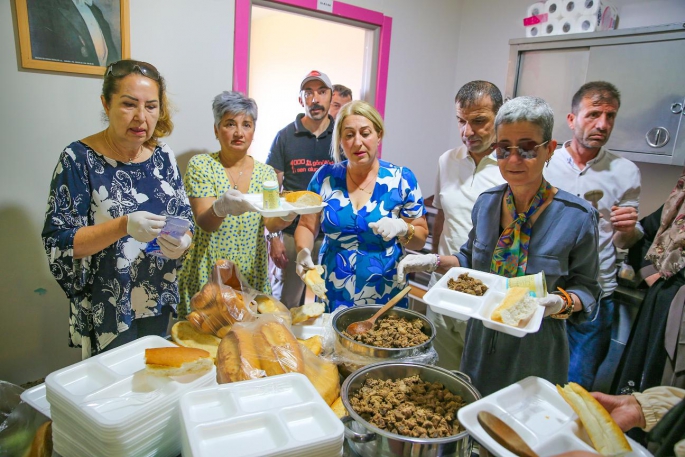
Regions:
[[[343,452],[342,422],[299,373],[186,393],[181,428],[184,457],[330,457]]]

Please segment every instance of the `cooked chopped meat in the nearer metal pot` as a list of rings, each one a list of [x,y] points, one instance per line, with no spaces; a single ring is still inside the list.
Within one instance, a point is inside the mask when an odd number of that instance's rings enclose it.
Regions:
[[[464,429],[457,411],[466,403],[440,382],[418,375],[404,379],[367,379],[350,397],[365,421],[391,433],[413,438],[444,438]]]

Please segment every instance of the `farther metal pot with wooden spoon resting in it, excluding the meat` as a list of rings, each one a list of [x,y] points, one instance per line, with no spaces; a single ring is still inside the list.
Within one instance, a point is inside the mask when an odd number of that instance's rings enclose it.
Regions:
[[[421,322],[423,323],[423,333],[428,335],[428,341],[425,343],[418,346],[412,346],[410,348],[379,348],[355,341],[349,336],[345,336],[343,334],[343,331],[347,329],[347,326],[352,322],[363,321],[370,318],[376,314],[376,312],[381,309],[382,306],[383,305],[353,306],[344,309],[333,316],[332,325],[338,342],[344,348],[354,352],[355,354],[366,357],[377,357],[380,359],[401,359],[404,357],[411,357],[418,354],[423,354],[433,346],[433,339],[435,338],[435,325],[433,325],[433,323],[423,314],[405,308],[392,308],[383,314],[381,319],[388,316],[404,317],[405,319],[409,320],[421,319]]]

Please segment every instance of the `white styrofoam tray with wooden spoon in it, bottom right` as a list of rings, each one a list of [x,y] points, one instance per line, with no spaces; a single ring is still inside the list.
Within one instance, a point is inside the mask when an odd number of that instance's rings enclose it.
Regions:
[[[568,451],[596,452],[573,409],[549,381],[529,376],[478,401],[457,413],[459,422],[476,441],[493,454],[513,457],[478,423],[478,412],[488,411],[516,431],[541,457]],[[624,457],[647,457],[651,454],[628,438],[633,452]]]

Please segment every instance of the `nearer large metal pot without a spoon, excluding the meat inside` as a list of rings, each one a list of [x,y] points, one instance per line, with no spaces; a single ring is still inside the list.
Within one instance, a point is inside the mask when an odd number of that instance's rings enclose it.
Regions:
[[[467,404],[480,399],[480,393],[471,385],[468,376],[459,372],[418,363],[382,362],[368,365],[352,373],[342,385],[341,397],[349,413],[343,422],[350,446],[363,457],[470,457],[473,442],[466,431],[445,438],[412,438],[381,430],[352,409],[350,397],[366,379],[401,379],[414,375],[419,375],[427,382],[441,382],[450,392],[461,395]]]

